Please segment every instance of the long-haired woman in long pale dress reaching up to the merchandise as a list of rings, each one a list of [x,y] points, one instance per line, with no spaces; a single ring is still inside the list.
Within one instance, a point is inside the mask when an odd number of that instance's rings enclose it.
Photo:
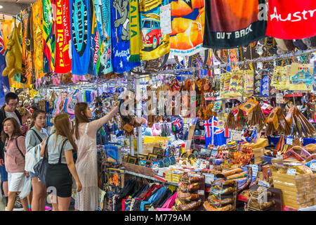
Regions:
[[[82,191],[77,193],[74,208],[79,211],[98,210],[98,159],[96,133],[103,124],[119,113],[119,107],[113,108],[108,115],[90,122],[92,117],[87,103],[74,106],[74,136],[78,144],[77,172]]]

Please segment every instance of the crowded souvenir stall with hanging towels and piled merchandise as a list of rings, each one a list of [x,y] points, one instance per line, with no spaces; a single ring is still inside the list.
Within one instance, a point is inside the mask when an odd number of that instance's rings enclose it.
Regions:
[[[100,211],[315,210],[315,8],[39,0],[1,21],[1,94],[48,129],[120,105],[97,133]]]

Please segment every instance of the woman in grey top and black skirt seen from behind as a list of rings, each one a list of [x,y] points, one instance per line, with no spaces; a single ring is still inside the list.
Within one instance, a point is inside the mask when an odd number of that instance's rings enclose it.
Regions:
[[[58,115],[54,119],[55,131],[45,140],[41,148],[41,157],[47,154],[48,167],[46,187],[55,189],[58,211],[69,210],[72,195],[72,176],[76,181],[77,193],[81,191],[81,182],[74,165],[72,153],[77,146],[71,133],[72,124],[67,114]],[[53,193],[51,194],[53,195]]]

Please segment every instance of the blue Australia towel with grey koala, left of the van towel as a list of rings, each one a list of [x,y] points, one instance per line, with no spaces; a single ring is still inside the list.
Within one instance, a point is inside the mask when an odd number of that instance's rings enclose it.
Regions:
[[[129,72],[140,62],[129,62],[129,0],[111,0],[111,37],[113,72]]]

